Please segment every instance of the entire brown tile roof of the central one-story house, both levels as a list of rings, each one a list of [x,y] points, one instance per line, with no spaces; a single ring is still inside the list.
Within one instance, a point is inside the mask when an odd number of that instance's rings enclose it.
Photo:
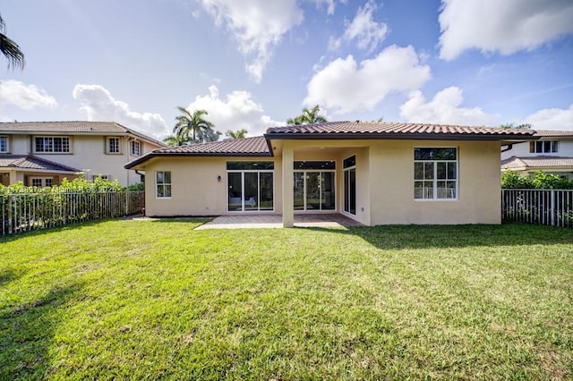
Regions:
[[[269,128],[264,136],[158,148],[124,165],[131,169],[152,157],[272,157],[272,139],[535,140],[535,131],[422,123],[330,122]]]

